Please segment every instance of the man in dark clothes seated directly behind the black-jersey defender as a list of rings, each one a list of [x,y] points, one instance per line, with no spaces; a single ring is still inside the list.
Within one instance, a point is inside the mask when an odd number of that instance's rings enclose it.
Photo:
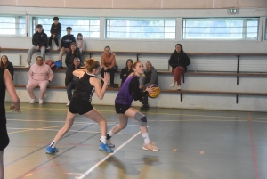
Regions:
[[[76,82],[78,80],[78,77],[75,77],[72,74],[72,72],[76,69],[81,69],[80,59],[77,57],[74,58],[73,62],[69,65],[66,71],[65,86],[67,86],[67,94],[69,102],[72,98],[72,90],[75,89]],[[67,106],[69,106],[69,102],[66,104]]]

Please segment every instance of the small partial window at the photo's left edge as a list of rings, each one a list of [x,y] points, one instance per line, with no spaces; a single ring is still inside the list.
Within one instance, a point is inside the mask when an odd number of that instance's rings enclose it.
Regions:
[[[2,16],[0,17],[0,34],[26,36],[25,17]]]

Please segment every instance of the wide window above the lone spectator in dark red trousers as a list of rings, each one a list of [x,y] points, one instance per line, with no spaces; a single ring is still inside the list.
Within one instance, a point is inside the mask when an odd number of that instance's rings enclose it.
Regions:
[[[252,39],[258,38],[259,18],[184,19],[182,39]]]

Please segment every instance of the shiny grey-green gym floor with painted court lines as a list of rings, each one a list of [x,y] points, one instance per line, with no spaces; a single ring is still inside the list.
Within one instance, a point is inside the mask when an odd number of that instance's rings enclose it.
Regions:
[[[98,150],[99,126],[78,116],[55,155],[45,153],[64,125],[64,104],[22,103],[9,110],[10,144],[4,151],[6,179],[266,179],[267,113],[158,109],[142,111],[158,152],[142,150],[138,123],[112,138],[114,154]],[[94,106],[109,129],[118,122],[113,106]],[[109,131],[108,129],[108,131]]]

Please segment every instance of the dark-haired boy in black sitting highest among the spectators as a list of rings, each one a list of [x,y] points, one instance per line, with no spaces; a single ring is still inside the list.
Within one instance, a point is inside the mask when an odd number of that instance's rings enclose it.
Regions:
[[[50,50],[52,45],[52,40],[54,40],[54,43],[57,45],[57,50],[61,50],[59,45],[59,38],[61,37],[61,23],[59,22],[58,17],[53,18],[53,24],[51,25],[50,29],[51,36],[48,41],[48,47],[47,50]]]

